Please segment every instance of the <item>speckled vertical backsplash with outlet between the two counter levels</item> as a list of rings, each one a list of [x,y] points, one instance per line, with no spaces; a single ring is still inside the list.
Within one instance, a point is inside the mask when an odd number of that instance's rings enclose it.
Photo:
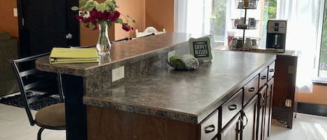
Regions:
[[[167,68],[168,52],[174,51],[176,55],[190,54],[188,42],[183,42],[174,47],[158,50],[152,54],[139,56],[137,59],[127,59],[105,65],[93,71],[92,75],[85,77],[86,95],[98,94],[101,90],[112,86],[112,69],[124,66],[124,78],[114,82],[123,82],[142,75],[148,75],[156,68]]]

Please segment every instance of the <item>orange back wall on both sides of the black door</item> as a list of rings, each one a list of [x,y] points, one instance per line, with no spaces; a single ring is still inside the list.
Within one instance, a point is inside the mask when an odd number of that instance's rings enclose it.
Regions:
[[[0,1],[0,19],[6,21],[0,22],[0,31],[8,31],[13,37],[18,38],[18,21],[17,17],[13,17],[13,8],[17,8],[17,1]],[[155,26],[159,31],[165,28],[168,33],[174,32],[174,0],[119,0],[116,2],[121,13],[137,20],[136,24],[132,24],[134,29],[144,31],[146,26]],[[80,33],[81,45],[95,45],[98,40],[98,31],[90,31],[82,24]],[[135,37],[135,31],[123,31],[120,24],[109,29],[110,40],[128,36]]]

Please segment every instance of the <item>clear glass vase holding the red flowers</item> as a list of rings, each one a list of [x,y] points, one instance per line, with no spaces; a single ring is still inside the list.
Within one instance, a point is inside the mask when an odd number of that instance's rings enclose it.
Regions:
[[[110,55],[110,49],[112,45],[109,41],[108,36],[108,24],[107,21],[99,22],[99,38],[96,44],[96,49],[98,49],[98,54],[100,56]]]

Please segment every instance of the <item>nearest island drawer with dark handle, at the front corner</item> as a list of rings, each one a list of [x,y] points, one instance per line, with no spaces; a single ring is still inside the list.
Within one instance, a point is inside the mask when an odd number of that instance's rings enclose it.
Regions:
[[[201,123],[201,140],[211,140],[218,134],[218,111]]]

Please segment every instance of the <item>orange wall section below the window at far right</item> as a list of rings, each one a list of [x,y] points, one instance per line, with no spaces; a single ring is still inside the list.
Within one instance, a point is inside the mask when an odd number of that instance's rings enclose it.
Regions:
[[[313,85],[312,93],[298,93],[296,101],[327,105],[327,86]]]

